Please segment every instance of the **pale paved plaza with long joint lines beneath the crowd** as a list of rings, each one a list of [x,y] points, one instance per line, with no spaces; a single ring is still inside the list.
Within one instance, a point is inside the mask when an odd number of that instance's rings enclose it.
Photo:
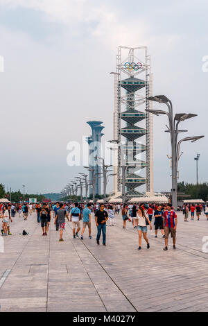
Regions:
[[[131,223],[122,229],[121,216],[107,226],[106,248],[96,245],[94,218],[92,240],[88,230],[83,241],[73,239],[67,222],[62,243],[53,223],[42,237],[35,213],[15,217],[0,253],[0,311],[208,311],[208,221],[178,216],[177,250],[170,239],[167,252],[154,230],[150,250],[143,241],[137,251],[138,234]]]

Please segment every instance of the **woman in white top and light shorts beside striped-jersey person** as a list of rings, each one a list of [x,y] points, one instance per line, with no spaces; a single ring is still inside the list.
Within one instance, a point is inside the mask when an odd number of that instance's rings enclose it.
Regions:
[[[145,212],[144,212],[144,208],[143,207],[139,207],[138,211],[137,211],[137,218],[138,218],[138,234],[139,234],[139,248],[138,250],[141,250],[141,236],[143,234],[144,240],[147,243],[147,248],[150,248],[150,243],[148,241],[147,238],[147,226],[146,226],[146,221],[148,221],[149,225],[150,225],[150,230],[153,229],[151,222],[149,220],[149,218],[146,216]]]

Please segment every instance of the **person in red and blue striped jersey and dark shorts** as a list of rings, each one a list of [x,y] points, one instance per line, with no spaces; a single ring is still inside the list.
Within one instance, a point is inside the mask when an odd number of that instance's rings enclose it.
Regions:
[[[167,210],[164,212],[163,216],[164,230],[165,230],[165,247],[164,250],[168,250],[168,237],[171,233],[171,237],[173,238],[173,249],[175,247],[176,241],[176,229],[177,229],[177,215],[175,211],[172,209],[171,204],[167,205]]]

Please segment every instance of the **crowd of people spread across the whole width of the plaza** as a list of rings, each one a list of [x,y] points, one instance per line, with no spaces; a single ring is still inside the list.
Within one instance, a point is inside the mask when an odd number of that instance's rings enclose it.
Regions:
[[[177,207],[177,210],[182,210],[184,214],[184,222],[189,219],[189,212],[191,212],[191,221],[194,220],[195,212],[197,220],[200,221],[202,212],[207,216],[208,221],[208,207],[207,205],[184,205],[182,209]],[[33,212],[37,214],[37,223],[40,223],[42,228],[42,236],[47,236],[49,232],[49,225],[51,220],[55,225],[55,230],[60,231],[59,241],[64,241],[63,231],[66,226],[66,218],[72,225],[73,239],[79,237],[84,239],[86,228],[89,231],[89,239],[92,239],[92,214],[94,214],[94,221],[97,227],[96,243],[100,244],[101,233],[103,235],[103,246],[106,246],[106,226],[114,226],[116,215],[123,219],[123,230],[126,229],[126,223],[131,222],[132,228],[136,229],[139,235],[139,248],[141,250],[142,236],[146,241],[147,248],[150,248],[148,240],[148,226],[150,230],[153,229],[153,217],[155,227],[155,238],[158,237],[158,230],[160,230],[165,241],[164,250],[168,250],[168,237],[171,234],[173,238],[173,249],[176,249],[176,230],[177,230],[177,214],[171,204],[167,205],[128,205],[128,204],[106,204],[98,203],[12,203],[8,205],[0,205],[0,218],[2,218],[1,233],[3,236],[12,235],[10,232],[10,223],[12,218],[18,214],[19,218],[23,216],[24,220],[28,219]],[[52,219],[53,218],[53,219]],[[83,224],[81,225],[81,221]]]

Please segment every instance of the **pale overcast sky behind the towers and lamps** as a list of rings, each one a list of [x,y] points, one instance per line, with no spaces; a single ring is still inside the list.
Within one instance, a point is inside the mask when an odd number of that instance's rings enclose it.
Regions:
[[[180,181],[196,182],[197,153],[199,180],[208,181],[207,22],[206,0],[0,0],[0,182],[61,191],[84,171],[67,166],[67,144],[89,135],[86,122],[103,121],[112,139],[109,73],[119,45],[148,46],[154,94],[170,97],[175,112],[198,114],[182,128],[205,139],[182,146]],[[154,118],[155,191],[171,189],[165,124]]]

